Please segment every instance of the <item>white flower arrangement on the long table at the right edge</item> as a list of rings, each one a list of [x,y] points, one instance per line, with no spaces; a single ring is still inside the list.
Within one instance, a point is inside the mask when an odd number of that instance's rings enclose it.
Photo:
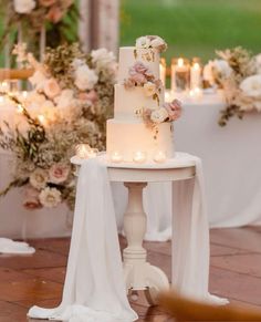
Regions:
[[[261,54],[252,55],[240,46],[217,54],[220,59],[205,66],[203,79],[223,89],[227,107],[219,125],[225,126],[234,115],[242,118],[246,112],[261,111]]]

